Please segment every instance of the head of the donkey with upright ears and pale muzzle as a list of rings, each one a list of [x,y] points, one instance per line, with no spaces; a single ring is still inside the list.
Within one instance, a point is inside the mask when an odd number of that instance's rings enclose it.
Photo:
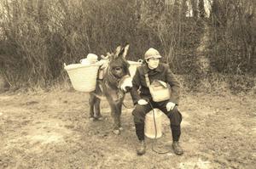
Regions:
[[[129,49],[129,44],[122,48],[117,47],[112,54],[108,53],[108,80],[112,83],[112,86],[117,86],[124,92],[129,92],[131,90],[131,77],[129,72],[129,63],[125,59],[127,51]]]

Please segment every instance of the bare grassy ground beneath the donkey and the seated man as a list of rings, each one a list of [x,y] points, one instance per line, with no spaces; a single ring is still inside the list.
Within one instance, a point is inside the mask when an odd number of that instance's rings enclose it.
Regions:
[[[136,155],[132,109],[123,109],[124,130],[111,132],[112,118],[102,100],[103,121],[90,121],[88,94],[73,90],[0,94],[0,168],[254,168],[255,94],[183,94],[181,145],[171,149],[167,118],[154,149]],[[130,108],[131,97],[125,104]]]

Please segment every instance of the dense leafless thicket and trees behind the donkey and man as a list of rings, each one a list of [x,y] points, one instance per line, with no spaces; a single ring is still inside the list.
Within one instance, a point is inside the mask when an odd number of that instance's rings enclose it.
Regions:
[[[68,83],[63,63],[157,48],[188,91],[255,89],[253,0],[1,0],[1,85]]]

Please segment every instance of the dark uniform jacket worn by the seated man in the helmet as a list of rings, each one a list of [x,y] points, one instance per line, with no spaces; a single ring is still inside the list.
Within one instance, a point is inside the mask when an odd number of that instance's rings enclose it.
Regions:
[[[150,83],[154,80],[160,80],[170,85],[172,88],[170,101],[174,104],[178,104],[180,84],[177,82],[177,79],[173,75],[169,65],[162,63],[160,63],[155,70],[148,69],[148,65],[141,65],[140,67],[137,67],[135,76],[133,76],[132,79],[131,98],[133,100],[133,104],[137,104],[139,99],[152,99],[145,80],[145,74],[147,72]]]

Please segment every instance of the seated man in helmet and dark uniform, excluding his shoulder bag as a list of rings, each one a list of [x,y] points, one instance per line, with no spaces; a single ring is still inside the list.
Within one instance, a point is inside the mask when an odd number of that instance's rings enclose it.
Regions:
[[[183,154],[183,149],[178,144],[181,135],[180,123],[182,121],[182,115],[177,110],[180,86],[169,66],[160,63],[160,58],[160,53],[156,49],[149,48],[144,56],[146,64],[137,68],[136,74],[132,80],[133,87],[131,89],[131,98],[135,104],[135,109],[132,111],[132,115],[134,115],[136,134],[140,142],[137,149],[137,155],[143,155],[146,152],[144,142],[145,115],[154,108],[160,109],[170,119],[172,149],[177,155]],[[146,76],[148,76],[148,80]],[[153,100],[148,84],[155,80],[166,82],[170,85],[170,93],[172,94],[169,99],[157,102],[154,101],[155,99]]]

